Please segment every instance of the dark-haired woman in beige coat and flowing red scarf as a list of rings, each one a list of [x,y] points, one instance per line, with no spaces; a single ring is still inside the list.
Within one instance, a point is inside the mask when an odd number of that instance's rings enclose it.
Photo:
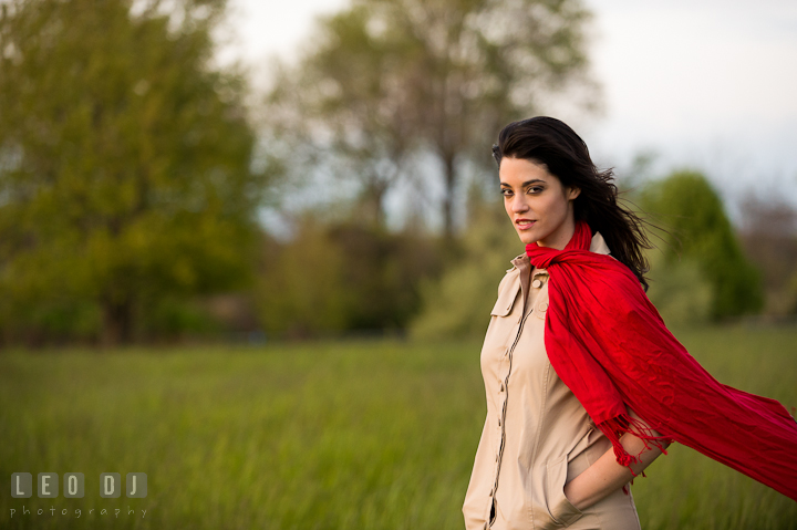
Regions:
[[[612,173],[550,117],[507,125],[493,150],[527,252],[482,350],[466,528],[639,529],[629,482],[671,440],[797,499],[797,424],[717,383],[664,328],[642,289],[649,241]]]

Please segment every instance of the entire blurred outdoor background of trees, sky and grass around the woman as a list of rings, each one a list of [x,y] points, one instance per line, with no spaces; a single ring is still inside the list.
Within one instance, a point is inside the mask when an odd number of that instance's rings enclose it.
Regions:
[[[794,2],[0,8],[0,468],[194,478],[85,524],[458,528],[524,252],[490,146],[532,115],[665,229],[649,297],[695,356],[797,403]],[[648,526],[795,528],[694,457]]]

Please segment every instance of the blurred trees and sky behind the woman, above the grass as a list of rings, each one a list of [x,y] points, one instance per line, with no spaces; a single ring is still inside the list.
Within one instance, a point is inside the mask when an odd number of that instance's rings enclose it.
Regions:
[[[671,232],[667,322],[797,312],[788,2],[2,6],[3,344],[478,336],[538,114]]]

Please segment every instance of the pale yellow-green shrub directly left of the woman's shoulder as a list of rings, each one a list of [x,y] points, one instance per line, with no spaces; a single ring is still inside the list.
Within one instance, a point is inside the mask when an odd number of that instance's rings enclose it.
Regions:
[[[462,256],[437,282],[424,285],[423,309],[411,329],[417,339],[484,336],[498,283],[524,251],[500,202],[472,200],[468,220]]]

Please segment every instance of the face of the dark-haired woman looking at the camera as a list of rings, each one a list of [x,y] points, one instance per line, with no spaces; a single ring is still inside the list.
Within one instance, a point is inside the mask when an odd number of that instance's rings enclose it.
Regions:
[[[581,190],[562,186],[544,164],[524,158],[501,158],[498,176],[520,241],[563,249],[576,231],[573,199]]]

